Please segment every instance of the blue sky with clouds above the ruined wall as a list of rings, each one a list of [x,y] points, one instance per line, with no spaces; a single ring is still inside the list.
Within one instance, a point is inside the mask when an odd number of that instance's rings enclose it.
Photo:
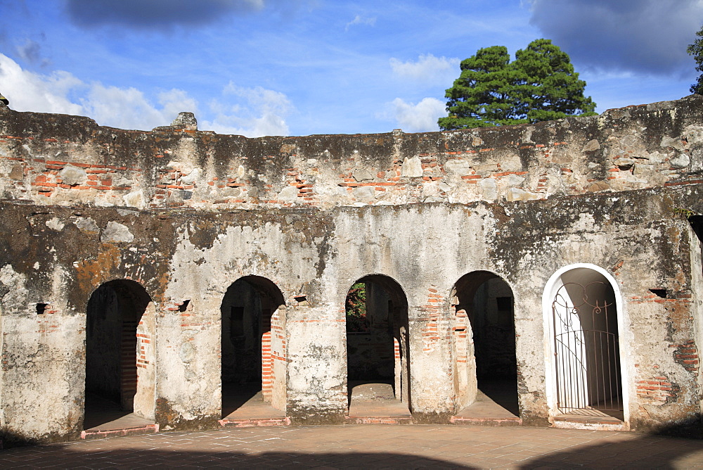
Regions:
[[[600,112],[689,94],[703,0],[0,0],[15,110],[219,134],[437,130],[459,63],[552,39]]]

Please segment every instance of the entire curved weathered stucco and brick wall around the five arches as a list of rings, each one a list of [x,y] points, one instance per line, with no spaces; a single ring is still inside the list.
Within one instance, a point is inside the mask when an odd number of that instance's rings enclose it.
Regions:
[[[263,139],[0,108],[4,438],[79,436],[86,307],[117,279],[151,301],[140,374],[153,391],[137,396],[162,429],[218,426],[221,305],[245,276],[283,298],[274,387],[292,422],[344,422],[344,300],[371,274],[407,304],[413,419],[448,422],[472,400],[456,386],[453,296],[477,271],[512,290],[520,417],[549,424],[543,293],[577,264],[621,294],[624,427],[697,426],[703,273],[685,213],[703,213],[702,101],[500,129]]]

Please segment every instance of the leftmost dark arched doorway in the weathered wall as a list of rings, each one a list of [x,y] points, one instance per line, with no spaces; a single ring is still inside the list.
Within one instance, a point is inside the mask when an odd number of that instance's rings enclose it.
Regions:
[[[118,279],[93,291],[86,308],[84,429],[119,428],[117,420],[129,414],[154,420],[154,326],[155,307],[141,284]],[[129,424],[141,422],[132,417]]]

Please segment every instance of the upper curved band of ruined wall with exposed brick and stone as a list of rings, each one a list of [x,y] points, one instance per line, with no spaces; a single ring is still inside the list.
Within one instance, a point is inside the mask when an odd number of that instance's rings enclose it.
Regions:
[[[39,205],[501,203],[686,184],[703,170],[698,95],[536,125],[260,139],[0,113],[0,197]]]

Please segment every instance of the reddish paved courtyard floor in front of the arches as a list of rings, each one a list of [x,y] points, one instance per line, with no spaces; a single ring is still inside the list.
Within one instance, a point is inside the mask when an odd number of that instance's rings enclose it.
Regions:
[[[522,426],[221,428],[0,451],[0,468],[703,469],[703,441]]]

